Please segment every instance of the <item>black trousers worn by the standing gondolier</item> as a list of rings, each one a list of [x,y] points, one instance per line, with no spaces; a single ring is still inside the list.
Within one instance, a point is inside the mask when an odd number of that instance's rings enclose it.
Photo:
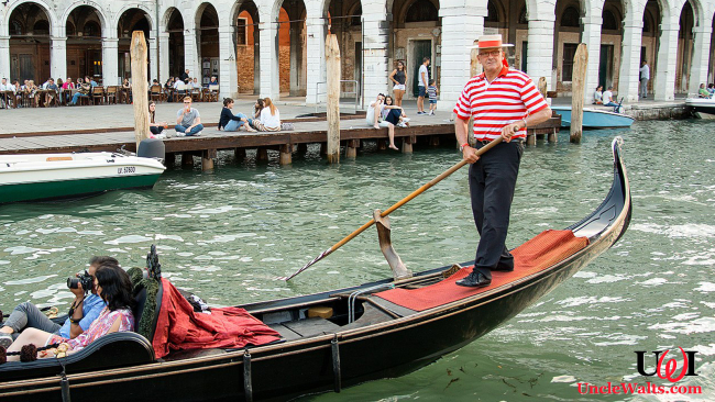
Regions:
[[[482,146],[477,144],[476,147]],[[506,248],[506,234],[522,154],[522,142],[501,143],[470,166],[472,213],[480,233],[474,271],[490,279],[492,269],[514,269],[514,257]]]

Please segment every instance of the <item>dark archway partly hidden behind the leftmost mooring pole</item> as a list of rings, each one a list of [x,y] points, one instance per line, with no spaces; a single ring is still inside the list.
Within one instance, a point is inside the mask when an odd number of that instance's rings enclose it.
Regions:
[[[118,37],[119,37],[119,77],[120,79],[131,78],[132,76],[132,66],[131,66],[131,56],[130,48],[132,44],[132,33],[134,31],[144,32],[144,38],[146,40],[146,60],[152,59],[152,52],[148,52],[148,40],[152,37],[152,26],[150,23],[150,18],[144,10],[141,9],[129,9],[122,13],[119,18],[119,23],[117,24]],[[150,64],[146,65],[146,77],[151,81],[152,77]]]

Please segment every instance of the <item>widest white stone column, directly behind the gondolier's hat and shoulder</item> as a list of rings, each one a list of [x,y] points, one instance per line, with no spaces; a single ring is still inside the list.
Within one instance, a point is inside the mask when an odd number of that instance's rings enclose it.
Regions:
[[[453,103],[470,80],[472,63],[470,47],[484,33],[486,1],[451,0],[440,4],[442,18],[442,53],[440,100],[452,110]],[[435,60],[432,60],[435,62]]]

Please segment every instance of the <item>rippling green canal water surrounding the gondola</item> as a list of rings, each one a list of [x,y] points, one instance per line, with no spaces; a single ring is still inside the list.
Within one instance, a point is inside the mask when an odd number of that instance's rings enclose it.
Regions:
[[[715,152],[713,123],[637,122],[626,131],[568,133],[522,159],[507,243],[590,213],[613,177],[610,142],[625,139],[634,216],[612,249],[537,304],[463,349],[410,375],[316,401],[714,400]],[[91,255],[142,266],[156,244],[166,277],[215,305],[312,293],[377,280],[389,267],[370,230],[288,283],[293,272],[459,161],[451,147],[413,155],[369,149],[327,166],[317,149],[282,167],[220,154],[211,174],[168,169],[150,191],[0,206],[0,309],[65,306],[68,275]],[[473,258],[477,235],[466,169],[392,215],[393,242],[415,271]],[[700,395],[580,394],[578,383],[647,381],[636,350],[696,350]],[[670,359],[669,355],[669,359]],[[681,358],[682,360],[682,358]],[[680,367],[680,366],[679,366]]]

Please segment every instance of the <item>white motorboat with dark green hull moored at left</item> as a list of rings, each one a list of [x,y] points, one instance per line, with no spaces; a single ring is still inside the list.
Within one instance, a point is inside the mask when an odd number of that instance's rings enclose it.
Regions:
[[[152,188],[165,169],[120,153],[0,155],[0,203]]]

